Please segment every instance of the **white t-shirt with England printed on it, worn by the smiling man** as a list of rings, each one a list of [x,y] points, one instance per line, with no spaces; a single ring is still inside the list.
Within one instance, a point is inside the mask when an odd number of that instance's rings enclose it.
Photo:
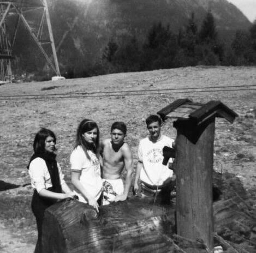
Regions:
[[[173,139],[161,135],[157,142],[146,137],[140,141],[138,156],[142,162],[140,180],[150,185],[163,185],[165,180],[172,177],[172,170],[163,165],[163,147],[172,147]],[[172,161],[170,158],[169,162]]]

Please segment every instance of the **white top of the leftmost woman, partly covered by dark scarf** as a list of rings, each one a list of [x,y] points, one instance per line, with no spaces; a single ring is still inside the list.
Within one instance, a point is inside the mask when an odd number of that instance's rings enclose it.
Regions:
[[[58,165],[59,180],[61,184],[64,181],[64,175],[62,174],[61,167]],[[51,176],[46,166],[46,162],[43,158],[37,157],[29,164],[28,173],[31,179],[31,185],[39,192],[42,189],[52,187]]]

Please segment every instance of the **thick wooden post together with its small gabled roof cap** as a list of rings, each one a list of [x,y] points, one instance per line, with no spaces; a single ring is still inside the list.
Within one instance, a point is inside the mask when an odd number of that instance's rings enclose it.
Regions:
[[[237,114],[221,101],[178,99],[157,112],[176,118],[176,227],[180,238],[203,240],[213,248],[212,171],[215,118],[233,122]],[[195,252],[193,248],[186,252]]]

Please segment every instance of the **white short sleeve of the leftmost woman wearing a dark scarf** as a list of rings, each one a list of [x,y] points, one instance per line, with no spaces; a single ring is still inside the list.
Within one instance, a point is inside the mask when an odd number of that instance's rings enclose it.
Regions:
[[[41,158],[35,158],[29,165],[29,176],[31,177],[32,184],[34,185],[37,192],[45,189],[45,171],[47,166],[45,161]]]

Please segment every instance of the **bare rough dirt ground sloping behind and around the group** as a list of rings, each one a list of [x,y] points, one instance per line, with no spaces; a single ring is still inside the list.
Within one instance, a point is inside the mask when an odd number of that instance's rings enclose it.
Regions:
[[[0,86],[0,251],[33,252],[37,238],[31,213],[32,189],[27,162],[32,155],[35,133],[40,127],[53,130],[57,136],[57,158],[67,181],[70,180],[69,155],[75,131],[83,118],[94,119],[102,138],[108,137],[114,121],[127,123],[127,142],[132,146],[134,167],[139,140],[147,135],[145,118],[178,98],[207,103],[221,100],[239,117],[233,124],[216,119],[215,170],[234,173],[246,191],[255,196],[255,89],[241,91],[231,86],[256,85],[255,67],[188,67],[154,70],[144,73],[122,73],[64,81],[13,83]],[[225,91],[222,86],[236,91]],[[219,87],[218,92],[204,87]],[[8,95],[49,95],[59,93],[110,92],[175,88],[202,88],[187,92],[154,95],[116,95],[113,97],[80,97],[55,99],[15,99]],[[253,87],[251,87],[253,88]],[[170,92],[170,91],[169,91]],[[174,91],[175,92],[175,91]],[[145,93],[145,92],[144,92]],[[21,98],[21,97],[20,97]],[[166,122],[163,133],[175,138],[172,121]],[[254,202],[255,203],[255,202]]]

